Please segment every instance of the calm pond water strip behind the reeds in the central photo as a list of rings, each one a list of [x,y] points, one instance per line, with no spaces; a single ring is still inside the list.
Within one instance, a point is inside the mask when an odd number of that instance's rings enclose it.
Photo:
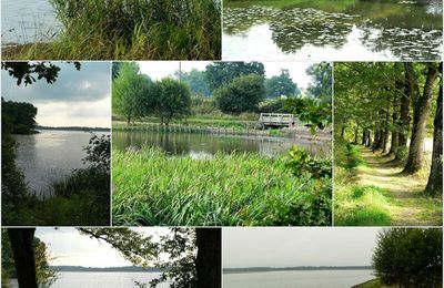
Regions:
[[[259,152],[262,155],[274,156],[282,154],[293,144],[313,154],[330,152],[327,144],[309,140],[122,131],[113,131],[112,134],[112,145],[121,151],[130,146],[157,146],[171,155],[191,155],[194,158],[211,157],[218,152]]]

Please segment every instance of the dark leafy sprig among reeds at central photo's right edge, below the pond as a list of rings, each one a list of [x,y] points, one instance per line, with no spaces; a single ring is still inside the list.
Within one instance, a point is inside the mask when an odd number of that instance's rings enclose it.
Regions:
[[[294,145],[286,154],[286,167],[297,177],[307,174],[310,177],[323,178],[332,177],[331,158],[320,158],[311,156],[305,150]]]

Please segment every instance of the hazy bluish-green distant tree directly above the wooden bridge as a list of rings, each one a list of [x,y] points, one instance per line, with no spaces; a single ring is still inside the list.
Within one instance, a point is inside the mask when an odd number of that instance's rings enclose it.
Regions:
[[[265,89],[268,97],[291,96],[301,93],[286,69],[281,69],[281,74],[268,79]]]

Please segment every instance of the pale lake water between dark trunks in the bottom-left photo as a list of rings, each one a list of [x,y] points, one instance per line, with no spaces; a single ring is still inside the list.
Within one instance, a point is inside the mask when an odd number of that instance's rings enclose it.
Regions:
[[[159,272],[59,272],[57,281],[51,288],[135,288],[134,280],[148,284],[158,278]],[[18,288],[17,280],[12,288]],[[159,285],[158,288],[170,287],[169,284]]]

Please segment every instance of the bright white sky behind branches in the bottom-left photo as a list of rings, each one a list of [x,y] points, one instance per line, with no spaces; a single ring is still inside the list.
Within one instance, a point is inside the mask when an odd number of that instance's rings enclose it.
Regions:
[[[168,228],[134,228],[145,235],[164,235]],[[109,244],[81,235],[75,228],[37,228],[36,237],[44,241],[52,266],[121,267],[132,266]]]

